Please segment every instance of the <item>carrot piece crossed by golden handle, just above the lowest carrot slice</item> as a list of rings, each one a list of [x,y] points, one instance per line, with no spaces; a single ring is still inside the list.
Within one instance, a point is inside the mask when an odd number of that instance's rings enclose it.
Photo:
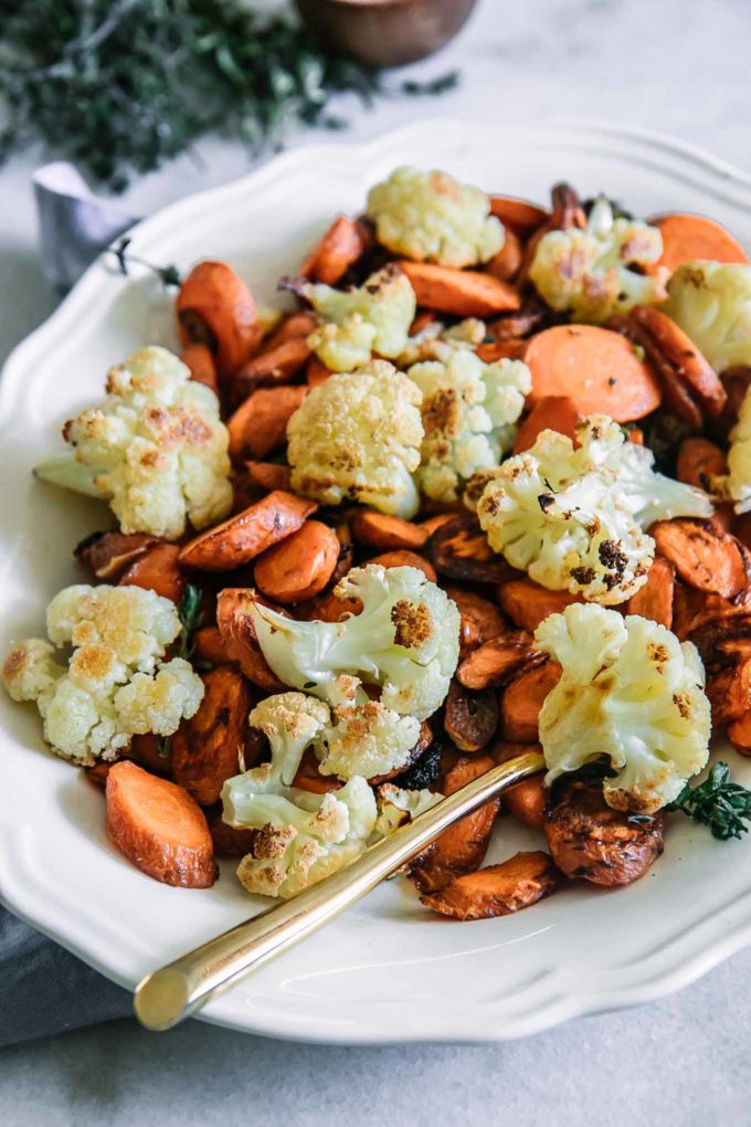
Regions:
[[[489,755],[459,760],[444,780],[444,793],[453,795],[459,787],[479,779],[493,766]],[[410,876],[421,893],[431,893],[449,884],[462,872],[482,864],[488,852],[500,799],[481,806],[446,829],[410,867]]]

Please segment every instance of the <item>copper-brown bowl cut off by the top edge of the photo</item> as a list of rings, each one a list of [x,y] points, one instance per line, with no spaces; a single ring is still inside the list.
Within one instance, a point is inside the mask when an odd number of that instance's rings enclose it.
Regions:
[[[329,46],[367,66],[402,66],[439,51],[476,0],[295,0]]]

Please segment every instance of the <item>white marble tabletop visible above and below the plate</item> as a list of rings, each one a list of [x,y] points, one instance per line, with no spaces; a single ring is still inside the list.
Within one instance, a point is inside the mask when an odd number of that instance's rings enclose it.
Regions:
[[[354,127],[340,140],[420,115],[578,115],[673,133],[748,168],[750,41],[745,0],[481,0],[457,42],[413,68],[427,76],[459,66],[458,91],[440,103],[381,103],[373,113],[346,99]],[[145,213],[248,167],[239,147],[217,141],[202,144],[198,156],[147,177],[127,206]],[[54,307],[36,257],[35,162],[29,153],[0,172],[0,357]],[[480,1048],[301,1047],[198,1022],[157,1039],[116,1022],[0,1053],[0,1120],[6,1127],[744,1124],[751,1121],[746,976],[751,952],[651,1006]]]

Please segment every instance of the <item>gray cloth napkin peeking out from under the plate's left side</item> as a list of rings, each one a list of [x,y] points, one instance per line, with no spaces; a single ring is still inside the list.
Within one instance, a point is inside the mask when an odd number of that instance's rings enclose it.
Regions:
[[[65,293],[136,222],[93,196],[72,165],[34,177],[44,273]],[[0,1047],[123,1018],[131,995],[0,907]]]

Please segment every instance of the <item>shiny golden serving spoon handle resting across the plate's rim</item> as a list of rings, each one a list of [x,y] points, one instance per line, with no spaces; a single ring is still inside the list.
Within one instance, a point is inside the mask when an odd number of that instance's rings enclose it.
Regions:
[[[170,1029],[209,999],[329,923],[435,841],[454,822],[545,770],[538,752],[508,760],[372,845],[361,857],[290,900],[283,900],[146,975],[133,1009],[146,1029]]]

